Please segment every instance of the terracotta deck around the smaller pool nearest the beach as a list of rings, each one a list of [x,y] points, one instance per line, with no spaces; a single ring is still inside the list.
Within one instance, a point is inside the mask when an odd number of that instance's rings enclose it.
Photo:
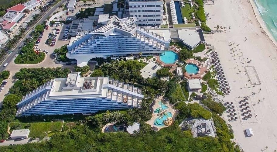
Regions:
[[[198,60],[187,59],[185,62],[187,64],[196,64],[197,67],[199,68],[198,74],[189,74],[189,73],[185,72],[184,77],[187,79],[201,79],[208,72],[208,68],[206,66],[203,66],[203,63]]]

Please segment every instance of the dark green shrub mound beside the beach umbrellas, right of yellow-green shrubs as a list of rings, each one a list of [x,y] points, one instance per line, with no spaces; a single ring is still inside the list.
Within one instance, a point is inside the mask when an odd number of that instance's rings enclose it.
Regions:
[[[213,99],[210,96],[207,99],[202,100],[201,103],[205,105],[208,109],[210,109],[212,112],[215,112],[220,116],[226,110],[226,108],[221,102],[217,103],[213,101]]]

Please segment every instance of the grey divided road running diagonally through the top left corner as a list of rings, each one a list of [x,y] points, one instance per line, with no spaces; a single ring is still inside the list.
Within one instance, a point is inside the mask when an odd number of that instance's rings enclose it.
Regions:
[[[44,14],[42,16],[42,18],[35,24],[38,25],[38,24],[41,24],[43,23],[43,21],[46,20],[47,16],[51,16],[53,11],[56,10],[59,5],[61,5],[62,3],[66,2],[66,0],[61,0],[60,2],[58,2],[55,6],[51,7],[51,9],[49,9],[46,14]],[[13,60],[14,60],[14,57],[16,54],[19,53],[19,48],[20,46],[22,46],[22,44],[24,43],[24,40],[29,36],[29,34],[32,32],[33,30],[30,28],[28,33],[26,34],[26,36],[24,36],[22,38],[22,40],[15,46],[15,49],[12,51],[12,53],[9,54],[9,56],[3,61],[3,63],[0,65],[0,72],[4,71],[5,70],[5,67],[3,66],[5,63],[8,63],[10,64]]]

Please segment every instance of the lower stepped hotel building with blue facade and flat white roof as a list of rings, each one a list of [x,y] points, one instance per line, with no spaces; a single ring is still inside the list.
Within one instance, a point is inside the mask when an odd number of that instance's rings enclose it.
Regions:
[[[91,114],[100,110],[140,108],[142,91],[109,77],[69,73],[33,90],[17,103],[16,116]]]

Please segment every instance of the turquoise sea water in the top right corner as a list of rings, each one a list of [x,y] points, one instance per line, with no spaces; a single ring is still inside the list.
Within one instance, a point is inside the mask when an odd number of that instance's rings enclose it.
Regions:
[[[254,0],[268,31],[277,41],[277,0]]]

